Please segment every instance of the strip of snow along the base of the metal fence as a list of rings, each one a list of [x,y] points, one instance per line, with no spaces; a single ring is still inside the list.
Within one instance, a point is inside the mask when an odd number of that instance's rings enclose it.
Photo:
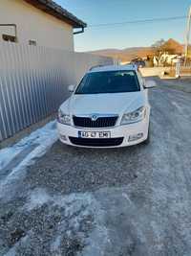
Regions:
[[[21,161],[18,162],[18,165],[10,170],[11,172],[0,181],[0,198],[6,197],[8,191],[10,192],[12,182],[16,182],[18,179],[21,180],[25,176],[27,167],[32,165],[36,158],[39,158],[45,154],[50,147],[52,147],[57,138],[58,136],[55,128],[55,121],[53,121],[43,128],[38,128],[12,147],[0,151],[1,174],[1,171],[14,160],[14,157],[18,156],[18,154],[22,151],[32,148],[32,151],[26,157],[24,157],[24,159],[21,159]],[[11,194],[7,196],[11,197]]]

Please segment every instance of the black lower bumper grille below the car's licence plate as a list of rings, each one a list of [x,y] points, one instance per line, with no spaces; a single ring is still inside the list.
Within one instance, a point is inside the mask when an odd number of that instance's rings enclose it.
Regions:
[[[114,147],[119,146],[123,142],[123,137],[110,139],[86,139],[69,137],[74,145],[87,147]]]

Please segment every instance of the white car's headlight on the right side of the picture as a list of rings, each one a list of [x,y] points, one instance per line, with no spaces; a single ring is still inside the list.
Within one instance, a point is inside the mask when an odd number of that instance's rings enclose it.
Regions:
[[[133,112],[125,113],[122,117],[120,125],[137,123],[139,121],[142,121],[142,119],[144,119],[145,116],[146,116],[146,108],[145,106],[141,106]]]

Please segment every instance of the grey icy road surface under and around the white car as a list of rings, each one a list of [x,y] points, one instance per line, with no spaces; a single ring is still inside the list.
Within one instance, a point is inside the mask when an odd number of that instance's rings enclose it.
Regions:
[[[150,101],[150,145],[56,142],[6,188],[0,255],[191,255],[191,95],[162,85]]]

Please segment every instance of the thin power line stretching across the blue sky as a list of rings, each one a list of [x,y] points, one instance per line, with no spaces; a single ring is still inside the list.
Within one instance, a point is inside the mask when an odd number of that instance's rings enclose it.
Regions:
[[[172,17],[163,17],[163,18],[150,18],[150,19],[138,19],[138,20],[128,20],[123,22],[116,23],[102,23],[102,24],[93,24],[89,25],[89,28],[98,28],[98,27],[111,27],[111,26],[122,26],[126,24],[143,24],[143,23],[152,23],[152,22],[160,22],[160,21],[171,21],[171,20],[179,20],[185,19],[187,16],[172,16]]]

